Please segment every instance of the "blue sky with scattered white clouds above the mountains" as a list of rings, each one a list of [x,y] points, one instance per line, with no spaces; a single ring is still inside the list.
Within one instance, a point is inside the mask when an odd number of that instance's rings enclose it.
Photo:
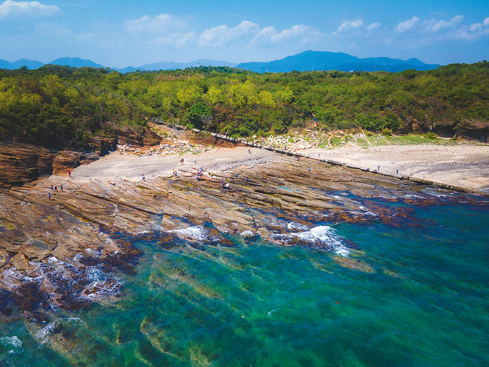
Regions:
[[[489,59],[489,1],[0,0],[0,59],[11,62],[239,63],[308,49],[443,65]]]

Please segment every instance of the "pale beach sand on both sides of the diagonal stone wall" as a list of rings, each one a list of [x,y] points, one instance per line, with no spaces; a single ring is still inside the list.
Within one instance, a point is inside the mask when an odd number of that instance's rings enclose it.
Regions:
[[[179,174],[188,174],[201,166],[208,174],[236,166],[252,167],[260,162],[273,160],[275,154],[278,154],[259,148],[250,150],[252,154],[248,153],[248,147],[218,147],[199,154],[139,157],[114,152],[99,161],[76,168],[73,176],[85,179],[140,180],[142,174],[147,178],[170,176],[173,169]],[[313,148],[301,152],[314,158],[334,160],[371,170],[380,166],[379,172],[394,174],[399,170],[399,175],[403,176],[424,178],[468,189],[489,189],[489,145],[386,145],[365,149],[346,144],[334,149]],[[183,165],[179,163],[181,158],[184,160]]]

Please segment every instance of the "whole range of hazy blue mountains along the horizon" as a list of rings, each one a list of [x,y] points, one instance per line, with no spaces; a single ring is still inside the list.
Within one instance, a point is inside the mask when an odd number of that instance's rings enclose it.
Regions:
[[[80,58],[60,58],[51,61],[49,64],[67,65],[73,67],[90,66],[94,68],[105,67],[97,64],[92,60],[84,60]],[[9,62],[0,59],[0,68],[2,69],[18,69],[22,65],[29,69],[37,69],[45,64],[40,61],[19,59],[14,62]],[[161,61],[158,63],[144,64],[139,67],[127,66],[125,68],[112,68],[122,73],[132,72],[136,70],[152,71],[152,70],[175,70],[185,69],[194,66],[230,66],[240,69],[251,70],[259,73],[263,72],[290,72],[310,71],[310,70],[339,70],[339,71],[391,71],[398,72],[406,69],[429,70],[435,69],[438,64],[425,64],[418,59],[391,59],[388,57],[378,58],[358,58],[343,53],[332,53],[327,51],[304,51],[303,53],[287,56],[280,60],[270,62],[246,62],[246,63],[231,63],[227,61],[218,61],[211,59],[200,59],[188,63],[177,63],[173,61]]]

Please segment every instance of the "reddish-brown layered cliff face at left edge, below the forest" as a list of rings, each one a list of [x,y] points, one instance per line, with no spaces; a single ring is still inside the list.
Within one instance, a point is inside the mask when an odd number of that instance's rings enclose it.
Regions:
[[[0,143],[0,189],[20,186],[41,176],[66,174],[98,155],[69,150],[55,151],[22,143]]]

